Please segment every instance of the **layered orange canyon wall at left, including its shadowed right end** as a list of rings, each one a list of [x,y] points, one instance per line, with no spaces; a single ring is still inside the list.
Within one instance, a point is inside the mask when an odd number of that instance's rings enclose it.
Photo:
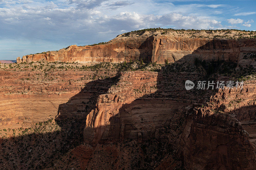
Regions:
[[[110,77],[116,74],[99,73]],[[81,117],[85,108],[92,105],[88,101],[108,90],[106,86],[100,91],[106,83],[92,81],[94,74],[62,70],[0,71],[0,129],[31,127],[60,114]]]

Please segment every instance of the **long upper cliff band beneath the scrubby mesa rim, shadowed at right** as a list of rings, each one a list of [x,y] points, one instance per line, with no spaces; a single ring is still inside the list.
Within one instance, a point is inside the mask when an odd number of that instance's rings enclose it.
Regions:
[[[142,34],[139,37],[115,38],[104,45],[76,46],[43,54],[25,55],[19,62],[114,62],[140,60],[163,64],[165,60],[173,63],[180,59],[191,61],[198,57],[205,60],[238,61],[239,56],[255,51],[255,39],[221,40],[206,38],[182,38],[170,35]],[[193,54],[192,54],[193,53]],[[186,56],[186,57],[184,57]]]

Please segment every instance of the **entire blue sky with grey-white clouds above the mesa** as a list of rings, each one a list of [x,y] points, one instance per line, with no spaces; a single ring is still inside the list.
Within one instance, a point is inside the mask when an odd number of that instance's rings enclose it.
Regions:
[[[0,60],[145,28],[256,30],[256,0],[0,0]]]

